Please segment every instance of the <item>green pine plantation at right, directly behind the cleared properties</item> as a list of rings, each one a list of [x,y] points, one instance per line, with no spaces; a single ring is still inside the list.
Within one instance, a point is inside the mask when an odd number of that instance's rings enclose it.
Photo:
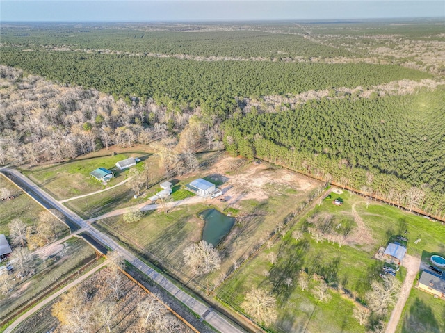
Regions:
[[[225,142],[234,154],[440,214],[445,133],[438,124],[445,123],[444,105],[444,86],[406,96],[325,98],[281,113],[235,115],[225,122]]]

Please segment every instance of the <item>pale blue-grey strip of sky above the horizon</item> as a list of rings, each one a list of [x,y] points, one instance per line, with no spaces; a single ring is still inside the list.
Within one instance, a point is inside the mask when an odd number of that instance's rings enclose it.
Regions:
[[[1,22],[202,22],[444,17],[430,0],[0,0]]]

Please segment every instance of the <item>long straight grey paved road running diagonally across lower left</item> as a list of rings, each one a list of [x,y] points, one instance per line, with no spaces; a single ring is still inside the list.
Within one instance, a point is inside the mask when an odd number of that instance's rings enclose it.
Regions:
[[[9,168],[0,168],[0,171],[6,171],[8,174],[13,174],[19,181],[21,181],[22,185],[25,185],[27,188],[31,188],[32,192],[36,195],[32,195],[36,200],[44,199],[47,203],[54,206],[54,208],[58,209],[58,211],[65,214],[67,218],[72,220],[77,226],[77,229],[83,229],[85,232],[88,232],[93,238],[97,239],[100,243],[108,246],[113,251],[118,252],[122,258],[129,261],[133,266],[137,267],[143,273],[145,273],[148,277],[153,279],[157,284],[163,287],[166,291],[168,291],[171,295],[174,295],[177,300],[185,304],[188,308],[190,308],[195,314],[199,316],[203,316],[207,310],[209,310],[209,306],[204,304],[200,300],[193,298],[193,296],[188,295],[181,289],[179,289],[175,284],[172,284],[168,277],[165,277],[163,274],[156,272],[156,270],[150,268],[146,263],[138,259],[134,254],[124,249],[124,247],[120,246],[118,243],[113,241],[106,234],[99,232],[99,230],[95,229],[91,225],[89,225],[83,218],[78,216],[76,213],[67,209],[67,207],[60,204],[57,200],[55,200],[51,195],[44,192],[44,190],[40,189],[37,185],[33,183],[30,179],[24,177],[23,174],[14,169]],[[216,328],[216,330],[222,333],[241,333],[245,332],[241,330],[241,328],[237,327],[233,323],[229,322],[229,320],[225,319],[223,316],[218,314],[217,311],[212,310],[209,312],[204,320],[209,323],[209,325]]]

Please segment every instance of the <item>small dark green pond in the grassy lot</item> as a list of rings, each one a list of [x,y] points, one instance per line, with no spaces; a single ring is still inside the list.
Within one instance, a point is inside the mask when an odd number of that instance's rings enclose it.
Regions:
[[[200,218],[204,219],[205,225],[202,230],[202,239],[211,243],[214,247],[223,240],[230,229],[232,229],[235,218],[226,216],[216,209],[206,209],[200,213]]]

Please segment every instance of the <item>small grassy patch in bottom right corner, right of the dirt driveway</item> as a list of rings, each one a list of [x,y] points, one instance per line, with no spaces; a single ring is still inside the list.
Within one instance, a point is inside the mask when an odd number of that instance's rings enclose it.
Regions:
[[[445,332],[445,302],[413,288],[396,333]]]

